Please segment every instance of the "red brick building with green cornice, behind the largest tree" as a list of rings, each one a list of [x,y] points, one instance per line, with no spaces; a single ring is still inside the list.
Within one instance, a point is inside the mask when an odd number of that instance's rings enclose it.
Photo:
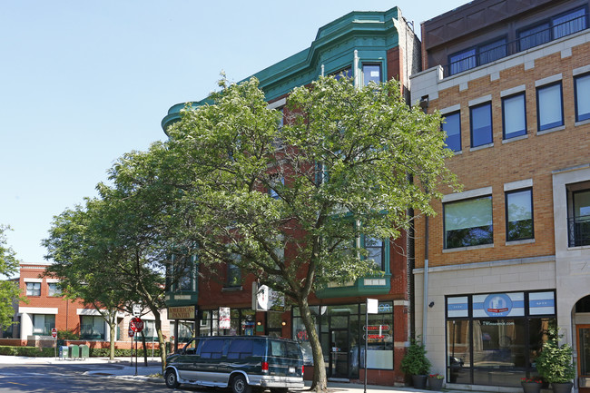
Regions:
[[[418,38],[397,7],[385,12],[352,12],[321,27],[309,48],[253,76],[260,81],[269,107],[278,110],[294,87],[329,74],[345,74],[358,86],[396,78],[409,98],[408,77],[418,71],[419,55]],[[193,104],[202,103],[204,100]],[[179,103],[170,108],[162,120],[164,131],[180,118],[184,106],[185,103]],[[408,345],[408,272],[412,250],[409,243],[405,235],[396,241],[375,240],[372,247],[379,255],[383,276],[329,286],[310,299],[329,378],[364,379],[362,355],[368,336],[369,384],[404,383],[399,363]],[[294,250],[284,250],[285,260],[291,252]],[[239,271],[222,266],[214,272],[199,270],[201,276],[196,280],[198,269],[202,267],[195,264],[192,281],[172,287],[166,298],[171,313],[177,307],[198,310],[191,319],[179,319],[179,325],[186,326],[186,334],[268,334],[298,339],[305,352],[306,375],[312,374],[308,332],[301,323],[299,309],[257,309],[256,300],[252,300],[256,298],[253,277],[239,277]],[[371,315],[369,326],[365,323],[367,298],[379,300],[379,314]],[[222,327],[222,323],[227,325]],[[195,325],[200,328],[194,329]],[[365,333],[374,329],[380,334]],[[180,332],[177,336],[182,338]]]

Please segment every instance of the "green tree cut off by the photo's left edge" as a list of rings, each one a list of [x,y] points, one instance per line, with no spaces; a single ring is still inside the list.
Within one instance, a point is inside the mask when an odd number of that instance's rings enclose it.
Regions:
[[[19,260],[16,259],[15,251],[7,244],[5,231],[10,231],[10,227],[0,225],[0,276],[10,278],[18,272]],[[13,324],[13,303],[20,299],[18,282],[0,280],[0,329],[6,329]]]

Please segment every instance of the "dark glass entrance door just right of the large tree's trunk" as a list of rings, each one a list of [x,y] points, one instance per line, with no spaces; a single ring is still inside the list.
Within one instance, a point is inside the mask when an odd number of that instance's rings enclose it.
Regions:
[[[329,378],[349,378],[349,316],[329,317]]]

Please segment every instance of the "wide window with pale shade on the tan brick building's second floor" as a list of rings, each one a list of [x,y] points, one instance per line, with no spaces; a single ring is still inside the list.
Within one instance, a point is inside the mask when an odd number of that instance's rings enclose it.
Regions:
[[[491,196],[445,204],[445,248],[493,242]]]

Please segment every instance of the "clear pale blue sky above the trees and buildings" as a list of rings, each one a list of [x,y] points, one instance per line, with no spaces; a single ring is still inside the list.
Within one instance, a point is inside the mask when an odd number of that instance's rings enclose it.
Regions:
[[[165,138],[174,103],[204,98],[310,46],[353,10],[419,24],[466,0],[3,0],[0,224],[29,263],[54,215],[95,196],[124,152]]]

